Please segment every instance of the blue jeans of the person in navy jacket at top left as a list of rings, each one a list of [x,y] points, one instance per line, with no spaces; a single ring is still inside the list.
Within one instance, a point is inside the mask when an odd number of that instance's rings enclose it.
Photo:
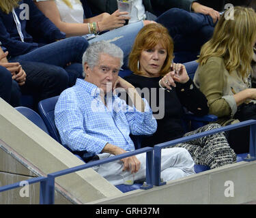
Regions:
[[[81,78],[83,74],[83,70],[81,71],[82,57],[88,45],[84,37],[69,37],[65,40],[47,44],[32,50],[25,55],[11,57],[9,61],[33,61],[63,68],[66,68],[68,63],[76,63],[74,67],[69,66],[67,70],[60,70],[59,72],[59,74],[65,74],[61,75],[61,77],[69,76],[69,86],[72,86],[76,78]]]

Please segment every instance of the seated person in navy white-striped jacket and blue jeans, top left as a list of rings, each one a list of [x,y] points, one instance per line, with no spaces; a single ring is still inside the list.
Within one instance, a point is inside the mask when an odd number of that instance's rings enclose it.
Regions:
[[[65,34],[35,7],[32,0],[1,0],[0,28],[0,41],[9,52],[9,61],[33,61],[64,68],[59,74],[66,76],[69,86],[76,78],[83,77],[81,61],[87,40],[83,37],[63,40]],[[47,43],[36,43],[33,36]]]

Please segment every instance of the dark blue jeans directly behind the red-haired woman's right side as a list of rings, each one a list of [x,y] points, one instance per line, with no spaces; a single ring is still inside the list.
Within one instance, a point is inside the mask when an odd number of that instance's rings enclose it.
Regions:
[[[176,63],[197,59],[201,46],[210,40],[216,25],[211,16],[179,8],[172,8],[163,13],[156,22],[167,27],[173,38]]]

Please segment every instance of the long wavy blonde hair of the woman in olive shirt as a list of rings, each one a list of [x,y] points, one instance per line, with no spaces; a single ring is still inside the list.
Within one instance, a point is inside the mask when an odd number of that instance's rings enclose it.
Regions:
[[[253,59],[253,43],[256,40],[256,13],[252,8],[234,7],[233,20],[227,20],[225,13],[218,21],[212,38],[200,52],[199,65],[210,57],[223,57],[227,71],[248,76]]]

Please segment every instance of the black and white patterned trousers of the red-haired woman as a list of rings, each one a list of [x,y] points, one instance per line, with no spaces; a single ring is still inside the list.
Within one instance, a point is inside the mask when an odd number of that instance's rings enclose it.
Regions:
[[[190,131],[184,136],[192,136],[203,131],[220,128],[221,125],[211,123]],[[190,153],[196,164],[210,166],[211,169],[224,166],[229,163],[236,163],[236,153],[230,148],[225,132],[197,138],[189,142],[176,144],[175,147],[182,147]]]

